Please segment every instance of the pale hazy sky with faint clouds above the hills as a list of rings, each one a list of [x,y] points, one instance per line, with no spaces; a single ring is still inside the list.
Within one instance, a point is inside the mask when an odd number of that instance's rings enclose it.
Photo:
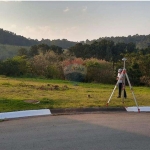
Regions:
[[[31,39],[150,34],[150,1],[0,1],[0,28]]]

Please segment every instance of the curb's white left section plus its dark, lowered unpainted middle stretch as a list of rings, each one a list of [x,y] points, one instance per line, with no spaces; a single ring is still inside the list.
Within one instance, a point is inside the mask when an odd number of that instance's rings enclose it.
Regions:
[[[126,111],[124,107],[95,107],[95,108],[66,108],[66,109],[40,109],[40,110],[25,110],[0,113],[0,119],[13,119],[32,116],[43,115],[63,115],[63,114],[81,114],[81,113],[94,113],[102,111]]]

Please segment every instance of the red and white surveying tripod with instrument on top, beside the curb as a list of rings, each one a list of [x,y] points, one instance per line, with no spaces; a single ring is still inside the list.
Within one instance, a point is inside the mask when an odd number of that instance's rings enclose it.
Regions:
[[[131,86],[131,83],[130,83],[130,80],[129,80],[129,77],[128,77],[128,74],[127,74],[127,71],[126,71],[126,68],[125,68],[125,62],[126,62],[127,59],[123,58],[122,60],[124,62],[123,71],[121,72],[121,75],[120,75],[120,77],[119,77],[119,79],[118,79],[118,81],[117,81],[117,83],[116,83],[116,85],[115,85],[115,87],[114,87],[114,89],[113,89],[113,91],[112,91],[112,93],[111,93],[111,95],[109,97],[109,100],[108,100],[108,102],[107,102],[106,105],[108,106],[108,104],[109,104],[109,102],[110,102],[110,100],[111,100],[111,98],[112,98],[112,96],[113,96],[113,94],[114,94],[114,92],[115,92],[118,84],[119,84],[119,80],[121,80],[121,78],[122,78],[122,81],[123,81],[123,83],[122,83],[122,94],[121,94],[121,97],[122,97],[122,102],[124,103],[124,92],[125,92],[124,89],[125,89],[125,77],[126,77],[127,81],[128,81],[128,84],[129,84],[129,87],[130,87],[130,90],[132,92],[132,96],[133,96],[133,99],[135,101],[136,107],[138,109],[138,112],[140,112],[139,106],[137,104],[137,101],[136,101],[136,98],[135,98],[135,95],[134,95],[134,92],[133,92],[133,89],[132,89],[132,86]]]

